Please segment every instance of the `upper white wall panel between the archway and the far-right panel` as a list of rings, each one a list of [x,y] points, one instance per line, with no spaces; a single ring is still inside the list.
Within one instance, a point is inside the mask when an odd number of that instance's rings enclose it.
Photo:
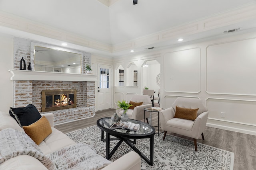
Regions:
[[[184,49],[164,55],[164,90],[166,92],[200,92],[201,50]]]

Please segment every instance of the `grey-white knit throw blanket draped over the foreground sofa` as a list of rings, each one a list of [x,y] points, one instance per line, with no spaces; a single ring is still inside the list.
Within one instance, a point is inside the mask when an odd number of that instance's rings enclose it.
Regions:
[[[98,170],[111,163],[82,143],[44,155],[26,133],[11,128],[0,131],[0,164],[18,155],[33,156],[48,170]]]

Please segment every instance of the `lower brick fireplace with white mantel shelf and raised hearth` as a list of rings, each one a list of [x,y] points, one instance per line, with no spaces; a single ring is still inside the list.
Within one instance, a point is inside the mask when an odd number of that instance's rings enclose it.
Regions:
[[[48,111],[54,113],[54,125],[95,115],[96,75],[29,70],[9,71],[12,74],[11,80],[14,80],[14,107],[23,107],[31,103],[39,112],[42,112],[42,90],[76,89],[77,107]]]

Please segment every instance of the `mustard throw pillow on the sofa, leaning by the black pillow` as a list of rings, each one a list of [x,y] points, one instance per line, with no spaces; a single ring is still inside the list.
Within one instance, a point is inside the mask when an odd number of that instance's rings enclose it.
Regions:
[[[39,145],[48,135],[52,133],[52,128],[46,117],[41,117],[29,126],[22,126],[25,133]]]

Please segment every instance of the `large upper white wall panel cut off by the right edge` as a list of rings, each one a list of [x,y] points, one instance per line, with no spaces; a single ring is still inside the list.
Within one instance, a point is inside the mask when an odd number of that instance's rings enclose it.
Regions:
[[[256,95],[256,38],[206,48],[206,91],[209,94]]]

